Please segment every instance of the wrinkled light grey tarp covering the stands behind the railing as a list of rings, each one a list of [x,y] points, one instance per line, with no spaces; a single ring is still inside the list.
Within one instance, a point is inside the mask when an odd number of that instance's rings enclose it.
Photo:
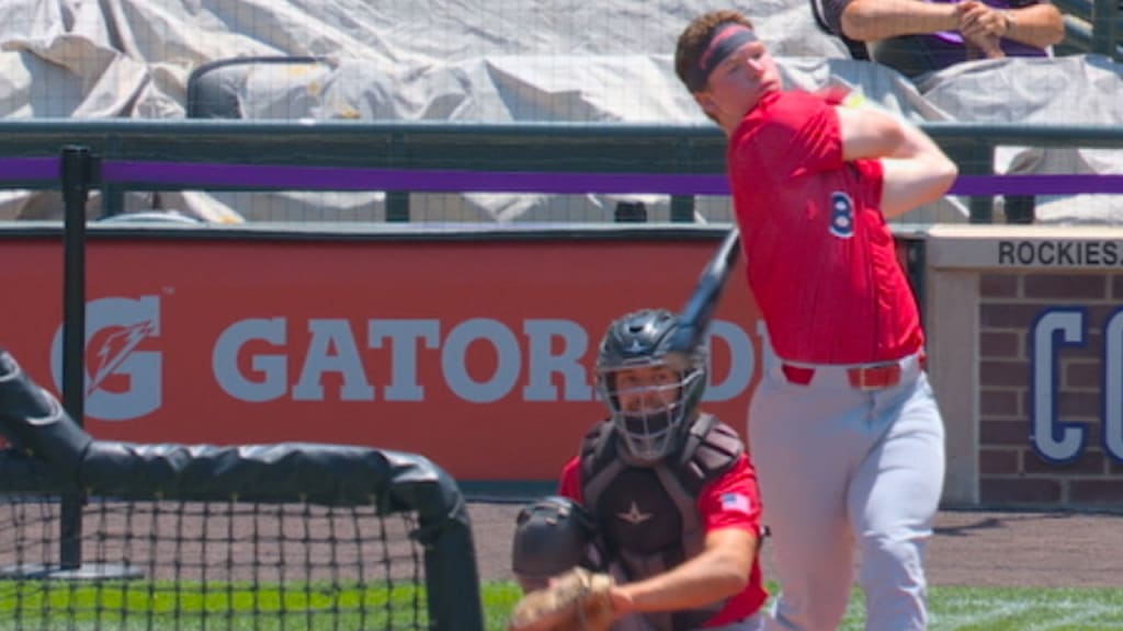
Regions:
[[[231,57],[316,56],[312,65],[244,65],[230,82],[245,118],[460,121],[703,121],[672,67],[691,17],[724,2],[606,0],[6,0],[0,115],[179,118],[191,72]],[[917,90],[887,68],[847,60],[804,0],[755,2],[747,15],[791,85],[842,83],[915,120],[1111,122],[1123,118],[1121,67],[1067,57],[965,64]],[[1079,103],[1079,108],[1077,107]],[[1074,120],[1077,115],[1078,120]],[[1052,154],[1057,154],[1053,156]],[[1117,172],[1120,152],[1003,149],[999,172]],[[619,198],[414,194],[441,221],[603,221]],[[642,199],[655,220],[667,199]],[[210,220],[378,220],[381,193],[133,193],[130,210],[175,208]],[[1067,210],[1052,210],[1053,207]],[[0,191],[0,218],[57,217],[57,195]],[[1047,203],[1043,219],[1079,219]],[[1123,212],[1097,211],[1097,220]],[[1067,214],[1065,214],[1067,213]],[[700,219],[727,220],[702,200]],[[962,220],[953,200],[909,221]]]

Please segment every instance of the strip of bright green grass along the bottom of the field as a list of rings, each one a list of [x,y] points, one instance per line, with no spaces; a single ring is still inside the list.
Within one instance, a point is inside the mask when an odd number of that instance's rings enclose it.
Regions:
[[[505,629],[519,595],[512,583],[484,585],[489,631]],[[1123,589],[934,587],[929,602],[931,631],[1123,631]],[[255,591],[249,584],[223,584],[203,591],[199,584],[141,580],[73,588],[53,584],[47,589],[22,589],[17,596],[13,584],[0,582],[0,631],[58,624],[82,631],[412,629],[416,606],[424,610],[424,593],[410,586],[391,591],[309,584]],[[365,618],[356,613],[358,609],[365,610]],[[287,613],[282,616],[282,611]],[[840,629],[862,629],[858,591]]]

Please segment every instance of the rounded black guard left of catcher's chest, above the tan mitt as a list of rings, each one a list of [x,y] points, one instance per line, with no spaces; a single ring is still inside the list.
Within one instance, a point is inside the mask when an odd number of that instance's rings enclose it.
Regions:
[[[593,518],[581,504],[549,495],[519,511],[511,543],[511,569],[523,592],[541,589],[551,576],[602,563]]]

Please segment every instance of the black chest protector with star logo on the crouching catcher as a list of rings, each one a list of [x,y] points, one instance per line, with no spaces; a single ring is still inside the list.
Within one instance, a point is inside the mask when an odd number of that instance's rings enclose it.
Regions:
[[[609,556],[638,580],[666,571],[702,551],[697,513],[702,488],[720,477],[743,449],[732,428],[710,414],[692,426],[683,448],[654,467],[626,465],[611,421],[590,431],[581,447],[585,506],[596,519]],[[723,605],[675,614],[648,614],[657,629],[696,629]]]

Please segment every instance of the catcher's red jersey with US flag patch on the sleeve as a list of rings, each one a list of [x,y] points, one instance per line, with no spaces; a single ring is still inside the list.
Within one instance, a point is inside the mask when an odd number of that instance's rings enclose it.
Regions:
[[[562,469],[558,495],[584,504],[581,492],[581,461],[573,458]],[[740,528],[760,536],[760,499],[757,493],[757,474],[743,454],[721,477],[702,488],[697,511],[705,532],[722,528]],[[713,618],[703,625],[721,627],[756,613],[768,600],[761,580],[760,560],[752,560],[749,584],[729,598]]]

